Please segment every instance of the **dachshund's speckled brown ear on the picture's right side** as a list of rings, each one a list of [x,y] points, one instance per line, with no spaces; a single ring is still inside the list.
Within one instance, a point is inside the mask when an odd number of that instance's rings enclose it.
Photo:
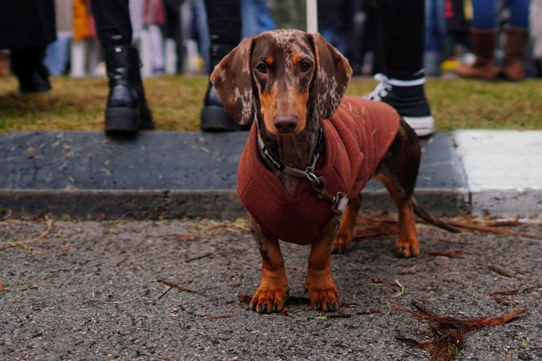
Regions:
[[[352,75],[347,59],[320,34],[307,34],[316,58],[315,92],[318,113],[329,119],[341,104]]]

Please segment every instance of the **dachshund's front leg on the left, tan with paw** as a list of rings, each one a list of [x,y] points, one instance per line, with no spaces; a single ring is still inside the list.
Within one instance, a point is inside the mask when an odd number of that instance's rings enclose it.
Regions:
[[[251,310],[260,313],[280,312],[289,287],[279,240],[265,233],[252,217],[249,217],[249,224],[262,256],[262,280],[252,297]]]

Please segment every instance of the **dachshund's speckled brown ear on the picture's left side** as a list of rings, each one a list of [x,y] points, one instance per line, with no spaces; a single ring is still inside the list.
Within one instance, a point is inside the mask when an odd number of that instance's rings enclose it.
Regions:
[[[248,124],[254,116],[251,85],[252,39],[246,38],[215,66],[211,82],[224,108],[237,123]]]

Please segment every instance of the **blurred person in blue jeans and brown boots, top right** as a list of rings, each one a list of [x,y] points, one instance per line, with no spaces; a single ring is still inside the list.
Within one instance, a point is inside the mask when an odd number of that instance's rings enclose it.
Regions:
[[[471,24],[472,50],[476,61],[459,66],[456,73],[466,78],[492,80],[501,75],[508,80],[525,78],[524,56],[529,39],[529,0],[508,0],[510,18],[505,27],[505,59],[502,68],[495,66],[495,37],[497,34],[498,12],[495,0],[472,2]]]

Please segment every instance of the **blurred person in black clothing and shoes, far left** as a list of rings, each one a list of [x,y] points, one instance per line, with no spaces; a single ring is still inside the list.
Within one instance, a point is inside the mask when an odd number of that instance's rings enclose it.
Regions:
[[[54,0],[0,1],[0,49],[9,49],[21,93],[51,89],[45,49],[56,40]]]

